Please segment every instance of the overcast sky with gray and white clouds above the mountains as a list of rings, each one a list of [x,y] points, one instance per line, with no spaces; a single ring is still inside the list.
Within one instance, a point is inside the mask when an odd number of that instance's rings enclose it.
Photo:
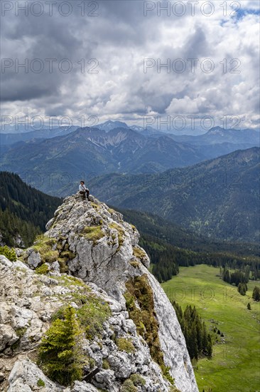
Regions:
[[[258,0],[2,0],[1,56],[6,122],[259,128]]]

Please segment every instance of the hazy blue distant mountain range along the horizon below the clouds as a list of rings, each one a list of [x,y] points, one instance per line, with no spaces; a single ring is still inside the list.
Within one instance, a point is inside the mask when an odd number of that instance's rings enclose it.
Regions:
[[[26,175],[46,175],[43,190],[66,195],[68,182],[80,177],[118,173],[162,172],[216,158],[234,150],[259,146],[256,130],[216,127],[205,135],[173,135],[151,127],[107,121],[99,128],[54,128],[29,133],[1,133],[1,170]],[[115,128],[117,127],[117,128]],[[67,182],[58,178],[66,176]],[[34,185],[34,184],[33,184]],[[37,185],[36,185],[37,186]]]

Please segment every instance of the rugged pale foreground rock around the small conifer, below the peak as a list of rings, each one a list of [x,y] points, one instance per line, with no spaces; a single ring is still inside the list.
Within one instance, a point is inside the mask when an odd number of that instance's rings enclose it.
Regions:
[[[5,380],[13,363],[13,356],[16,356],[17,361],[9,374],[8,388],[0,387],[0,390],[37,391],[37,383],[41,379],[45,383],[43,391],[46,392],[94,392],[97,388],[107,389],[109,392],[120,391],[126,378],[133,373],[139,373],[146,383],[142,391],[152,391],[153,384],[158,386],[154,391],[168,391],[168,381],[163,379],[161,368],[152,361],[148,346],[137,334],[136,326],[129,319],[125,306],[94,283],[86,286],[79,281],[79,284],[75,284],[75,281],[67,278],[67,274],[60,274],[59,279],[53,279],[37,275],[26,266],[16,267],[15,264],[6,257],[1,257],[0,279],[5,300],[2,301],[0,311],[1,352],[4,354],[2,358],[0,355],[0,368],[4,368]],[[17,290],[13,292],[15,286]],[[95,366],[102,370],[92,378],[91,384],[78,381],[71,388],[64,389],[50,381],[35,363],[23,357],[25,352],[28,352],[28,355],[31,351],[34,352],[41,336],[50,326],[51,315],[63,304],[73,304],[75,294],[76,297],[80,294],[99,297],[109,304],[112,314],[103,324],[102,336],[94,336],[91,341],[85,339],[82,346],[85,356],[92,359]],[[74,303],[74,306],[78,305]],[[120,350],[115,343],[119,338],[130,340],[133,351],[129,353]],[[103,368],[104,360],[109,368]]]

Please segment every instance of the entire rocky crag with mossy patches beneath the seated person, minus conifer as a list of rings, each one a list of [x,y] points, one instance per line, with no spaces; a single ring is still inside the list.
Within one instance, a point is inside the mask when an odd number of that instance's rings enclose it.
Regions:
[[[90,196],[66,197],[18,259],[0,256],[0,391],[197,392],[178,319],[148,271],[136,227]],[[38,347],[70,304],[84,326],[84,374],[48,378]]]

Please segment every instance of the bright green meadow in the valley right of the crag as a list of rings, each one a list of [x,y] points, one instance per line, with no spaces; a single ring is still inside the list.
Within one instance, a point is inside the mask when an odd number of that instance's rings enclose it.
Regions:
[[[200,392],[209,388],[212,392],[260,392],[260,304],[251,298],[260,283],[249,281],[242,296],[219,273],[205,264],[180,267],[180,273],[162,287],[183,309],[195,305],[208,329],[216,326],[224,334],[212,333],[221,340],[214,346],[212,359],[200,359],[194,365]]]

